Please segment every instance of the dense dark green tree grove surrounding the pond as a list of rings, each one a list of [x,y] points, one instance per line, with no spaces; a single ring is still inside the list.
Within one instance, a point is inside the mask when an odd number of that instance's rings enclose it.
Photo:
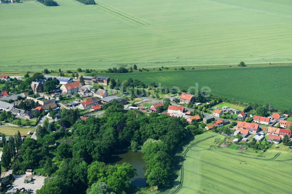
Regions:
[[[169,185],[174,148],[189,134],[181,119],[125,111],[116,100],[104,109],[103,117],[89,117],[85,121],[77,118],[75,110],[63,110],[62,122],[72,125],[72,133],[60,128],[57,133],[46,135],[50,124],[37,126],[37,141],[27,139],[20,146],[13,172],[37,167],[36,172],[50,174],[44,186],[36,191],[38,194],[132,193],[130,179],[136,170],[128,163],[106,165],[105,159],[119,151],[141,149],[147,165],[147,183]],[[57,140],[71,142],[51,146]],[[52,159],[60,165],[55,165]]]

